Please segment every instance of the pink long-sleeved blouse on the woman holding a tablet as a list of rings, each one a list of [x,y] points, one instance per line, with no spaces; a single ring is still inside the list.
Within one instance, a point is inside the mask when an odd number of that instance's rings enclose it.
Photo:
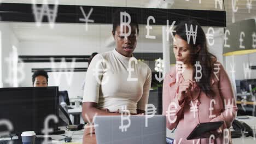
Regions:
[[[183,82],[182,74],[178,74],[176,80],[176,68],[172,67],[166,74],[163,85],[162,114],[166,116],[166,127],[175,130],[176,143],[232,143],[230,126],[236,117],[237,106],[232,86],[222,64],[219,64],[219,71],[212,74],[211,86],[215,92],[213,99],[206,96],[196,84],[188,93],[181,105],[178,103],[178,85]],[[215,66],[216,67],[216,66]],[[218,72],[218,73],[217,73]],[[216,139],[213,137],[198,140],[187,140],[188,135],[198,123],[224,121],[223,133]],[[194,141],[194,142],[193,142]]]

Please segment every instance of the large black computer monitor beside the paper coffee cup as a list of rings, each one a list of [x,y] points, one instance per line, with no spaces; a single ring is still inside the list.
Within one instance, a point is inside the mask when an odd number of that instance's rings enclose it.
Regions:
[[[14,127],[11,134],[44,129],[44,120],[53,114],[58,116],[58,87],[0,88],[0,119],[8,119]],[[53,120],[49,128],[57,130]],[[0,131],[6,128],[1,126]]]

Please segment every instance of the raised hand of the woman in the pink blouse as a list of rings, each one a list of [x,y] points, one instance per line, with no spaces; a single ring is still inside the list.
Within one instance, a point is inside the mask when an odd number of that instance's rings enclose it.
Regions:
[[[186,80],[182,83],[179,83],[178,101],[180,104],[183,103],[185,97],[187,97],[187,93],[191,90],[194,83],[195,83],[195,81],[191,81],[191,80]]]

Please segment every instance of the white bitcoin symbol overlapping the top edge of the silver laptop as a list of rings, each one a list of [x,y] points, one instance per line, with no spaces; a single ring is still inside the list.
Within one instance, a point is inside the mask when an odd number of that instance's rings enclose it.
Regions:
[[[121,125],[119,126],[119,129],[122,130],[122,132],[127,131],[127,128],[131,125],[131,119],[130,119],[130,111],[127,110],[127,106],[122,106],[121,109]],[[127,114],[126,114],[127,113]],[[126,115],[125,115],[126,114]],[[127,120],[128,124],[124,125],[124,121]]]

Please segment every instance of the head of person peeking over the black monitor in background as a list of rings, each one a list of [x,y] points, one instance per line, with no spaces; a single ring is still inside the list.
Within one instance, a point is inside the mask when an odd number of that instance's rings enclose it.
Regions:
[[[36,70],[32,75],[33,87],[47,87],[48,74],[45,70]]]

